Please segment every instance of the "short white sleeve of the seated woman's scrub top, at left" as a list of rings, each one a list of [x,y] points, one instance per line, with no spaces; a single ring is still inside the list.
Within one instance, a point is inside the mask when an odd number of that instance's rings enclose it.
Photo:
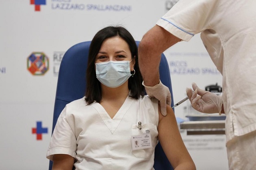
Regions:
[[[74,129],[70,127],[67,121],[66,107],[61,112],[52,133],[52,139],[46,154],[46,157],[50,160],[53,159],[54,154],[67,154],[76,157],[76,136]]]

